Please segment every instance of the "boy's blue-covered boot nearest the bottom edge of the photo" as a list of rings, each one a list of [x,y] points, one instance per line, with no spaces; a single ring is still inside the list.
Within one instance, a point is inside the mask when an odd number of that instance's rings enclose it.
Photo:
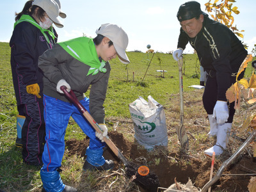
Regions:
[[[40,170],[41,179],[43,182],[44,188],[42,191],[49,191],[49,192],[61,192],[61,191],[70,191],[76,192],[76,188],[72,188],[70,186],[66,186],[63,184],[60,173],[58,171],[54,172],[44,172],[41,168]]]

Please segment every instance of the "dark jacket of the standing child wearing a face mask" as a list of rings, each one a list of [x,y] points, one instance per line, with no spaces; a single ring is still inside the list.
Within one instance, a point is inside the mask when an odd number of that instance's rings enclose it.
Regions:
[[[32,17],[33,19],[33,17]],[[34,19],[35,20],[35,19]],[[47,34],[47,33],[46,33]],[[55,36],[57,36],[54,30]],[[45,40],[45,36],[40,29],[29,22],[20,22],[13,29],[10,40],[11,65],[13,86],[18,105],[20,104],[19,81],[25,85],[38,83],[40,86],[40,95],[43,90],[43,73],[38,68],[38,57],[47,49],[51,49],[55,41],[47,34],[50,44]]]

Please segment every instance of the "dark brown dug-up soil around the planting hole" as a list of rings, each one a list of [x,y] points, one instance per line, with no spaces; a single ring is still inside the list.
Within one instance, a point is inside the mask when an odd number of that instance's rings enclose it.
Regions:
[[[190,156],[182,151],[168,152],[166,148],[156,148],[153,152],[148,152],[144,148],[138,146],[135,142],[125,140],[124,136],[116,131],[108,133],[109,138],[120,149],[126,159],[129,159],[134,164],[147,165],[152,173],[152,177],[157,175],[159,186],[168,188],[177,182],[186,184],[189,179],[192,180],[194,186],[202,189],[209,181],[211,170],[211,157],[202,161],[196,157]],[[89,139],[85,138],[82,141],[76,139],[66,141],[66,146],[69,155],[77,154],[84,156],[86,148],[89,145]],[[106,147],[104,150],[105,159],[112,159],[115,162],[115,169],[122,162]],[[221,166],[221,161],[216,159],[214,163],[214,172],[216,173]],[[221,178],[212,186],[212,191],[248,191],[248,183],[250,175],[234,176],[230,174],[246,174],[252,173],[255,170],[256,162],[250,154],[243,155],[243,158],[236,159],[236,162],[228,166],[223,172]],[[228,175],[226,175],[228,174]],[[152,189],[153,190],[153,189]],[[150,191],[141,186],[141,191]],[[153,191],[156,191],[155,189]]]

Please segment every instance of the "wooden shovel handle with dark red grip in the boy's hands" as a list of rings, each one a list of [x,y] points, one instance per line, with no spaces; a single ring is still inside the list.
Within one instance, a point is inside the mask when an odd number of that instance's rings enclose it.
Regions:
[[[99,124],[95,122],[92,115],[84,108],[84,106],[79,102],[77,99],[75,93],[70,90],[68,93],[66,86],[61,86],[60,90],[63,91],[64,95],[72,102],[78,109],[83,113],[83,116],[88,120],[88,122],[92,125],[92,127],[95,129],[95,131],[102,134],[102,129],[100,128]],[[116,145],[113,143],[113,141],[110,140],[110,138],[107,136],[103,137],[103,140],[107,143],[108,147],[111,148],[111,150],[114,152],[114,154],[124,163],[125,166],[128,165],[128,161],[125,159],[123,154],[120,152],[120,150],[116,147]]]

